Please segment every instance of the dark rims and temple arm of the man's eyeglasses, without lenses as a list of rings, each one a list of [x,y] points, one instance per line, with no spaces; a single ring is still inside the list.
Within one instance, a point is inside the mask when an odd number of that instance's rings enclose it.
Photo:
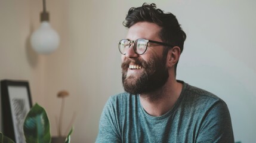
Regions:
[[[129,47],[128,48],[130,48],[131,47],[131,43],[133,43],[133,50],[134,50],[134,52],[136,53],[136,54],[138,54],[138,52],[136,52],[136,48],[137,47],[135,47],[135,45],[134,45],[134,43],[136,43],[138,40],[140,40],[140,39],[143,39],[143,38],[139,38],[139,39],[137,39],[137,40],[135,40],[135,41],[129,41],[129,39],[122,39],[121,41],[128,41],[128,43],[129,43]],[[159,45],[163,45],[163,46],[171,46],[171,47],[174,47],[173,45],[171,45],[171,44],[169,44],[169,43],[164,43],[164,42],[159,42],[159,41],[152,41],[152,40],[147,40],[147,39],[143,39],[144,41],[146,41],[147,42],[147,44],[150,42],[150,43],[158,43]],[[121,41],[119,41],[119,43],[118,43],[118,49],[119,49],[119,52],[122,54],[122,55],[125,55],[125,54],[123,54],[122,52],[121,52],[121,50],[120,50],[120,43],[121,43]],[[142,53],[142,54],[144,54],[146,51],[147,51],[147,46],[148,45],[146,45],[146,49],[145,49],[145,51]],[[138,54],[138,55],[142,55],[142,54]]]

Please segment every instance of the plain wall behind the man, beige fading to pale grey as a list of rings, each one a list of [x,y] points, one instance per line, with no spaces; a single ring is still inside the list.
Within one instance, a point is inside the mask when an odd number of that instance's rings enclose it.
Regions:
[[[149,3],[153,1],[147,1]],[[158,1],[187,33],[177,79],[206,89],[229,106],[235,141],[256,142],[255,1]],[[63,129],[77,114],[72,142],[94,142],[103,106],[123,91],[118,41],[127,11],[142,1],[47,1],[50,23],[60,35],[57,51],[38,55],[29,36],[39,27],[39,0],[0,0],[0,79],[29,80],[33,103],[45,107],[51,134],[61,89],[66,98]]]

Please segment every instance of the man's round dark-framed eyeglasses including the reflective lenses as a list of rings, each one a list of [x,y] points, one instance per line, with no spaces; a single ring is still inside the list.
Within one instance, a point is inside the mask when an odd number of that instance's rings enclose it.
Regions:
[[[147,51],[147,46],[148,43],[158,43],[159,45],[164,45],[164,46],[171,46],[168,43],[163,43],[163,42],[158,42],[158,41],[152,41],[152,40],[147,40],[147,39],[137,39],[135,41],[129,41],[128,39],[122,39],[119,42],[119,51],[121,52],[121,54],[125,55],[127,53],[128,48],[131,46],[131,44],[133,43],[133,49],[134,52],[138,55],[144,54],[144,52]]]

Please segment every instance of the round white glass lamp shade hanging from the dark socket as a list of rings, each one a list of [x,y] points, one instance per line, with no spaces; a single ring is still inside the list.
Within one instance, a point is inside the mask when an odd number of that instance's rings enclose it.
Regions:
[[[30,43],[39,54],[50,54],[58,48],[60,38],[48,21],[42,21],[39,29],[32,33]]]

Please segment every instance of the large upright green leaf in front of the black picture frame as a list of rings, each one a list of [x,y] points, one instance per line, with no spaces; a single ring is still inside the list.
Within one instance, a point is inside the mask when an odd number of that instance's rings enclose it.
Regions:
[[[37,103],[30,109],[23,125],[26,142],[51,142],[50,123],[47,114]]]

